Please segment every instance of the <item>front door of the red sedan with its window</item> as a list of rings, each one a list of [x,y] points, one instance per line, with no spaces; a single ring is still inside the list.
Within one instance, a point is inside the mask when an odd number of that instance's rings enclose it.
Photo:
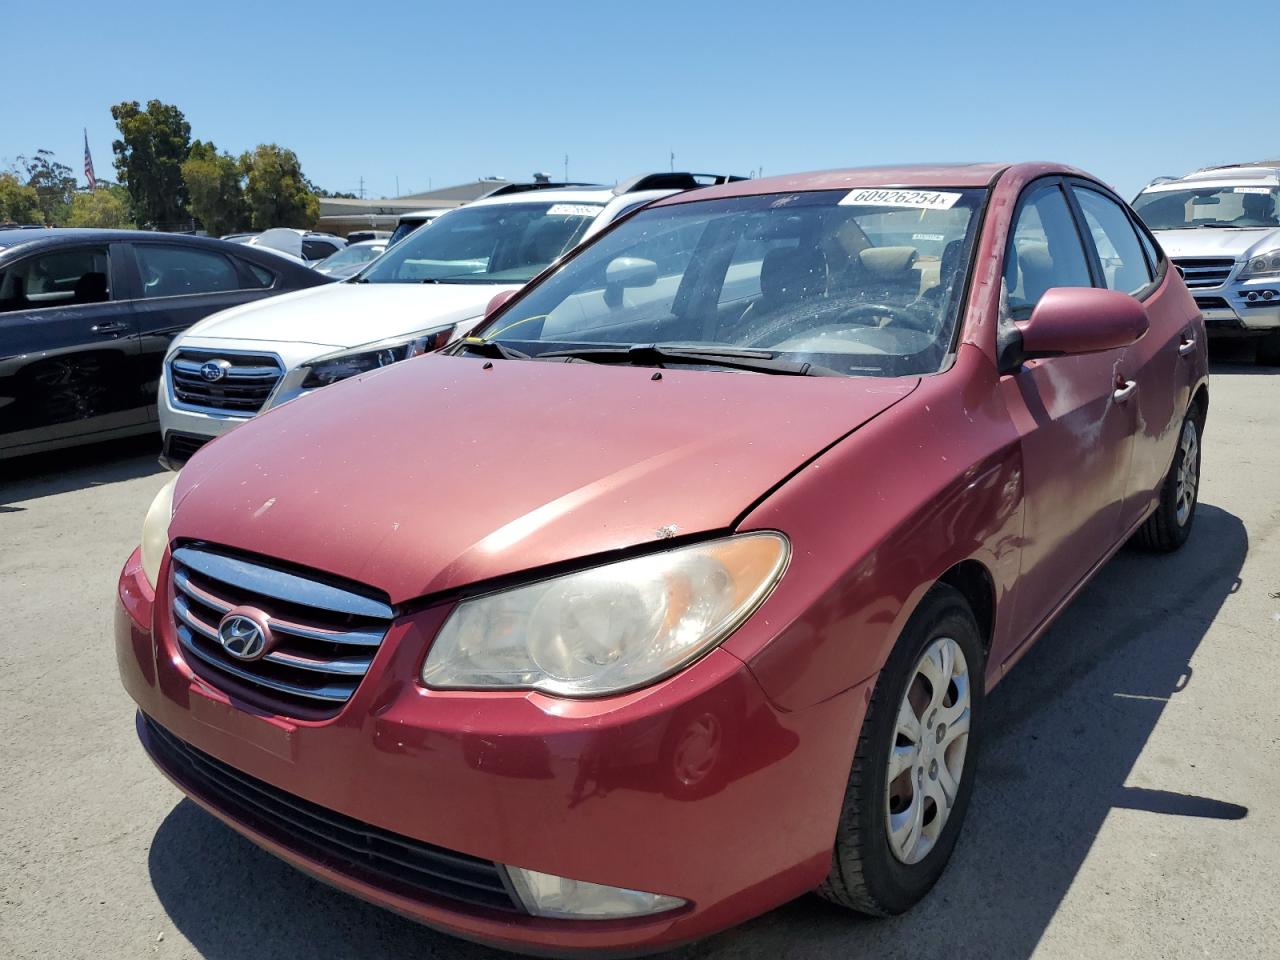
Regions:
[[[1028,186],[1005,251],[1009,319],[1030,316],[1053,287],[1102,285],[1100,274],[1066,184]],[[1119,539],[1137,424],[1129,379],[1124,349],[1032,360],[1001,378],[1027,503],[1010,636],[1029,635]]]

